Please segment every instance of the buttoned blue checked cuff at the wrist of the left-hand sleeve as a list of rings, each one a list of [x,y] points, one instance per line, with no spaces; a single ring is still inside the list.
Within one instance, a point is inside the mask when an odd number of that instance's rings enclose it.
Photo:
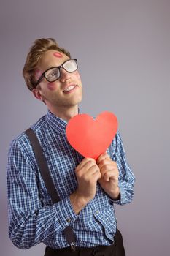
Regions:
[[[58,219],[63,228],[68,227],[69,225],[72,225],[73,222],[75,222],[77,219],[77,214],[74,213],[69,196],[59,201],[58,203],[55,203],[55,206]]]

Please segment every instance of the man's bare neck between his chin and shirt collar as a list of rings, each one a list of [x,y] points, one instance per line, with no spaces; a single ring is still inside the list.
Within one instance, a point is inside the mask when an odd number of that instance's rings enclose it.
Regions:
[[[78,114],[78,105],[72,106],[70,108],[48,108],[51,113],[63,120],[69,121],[70,118]]]

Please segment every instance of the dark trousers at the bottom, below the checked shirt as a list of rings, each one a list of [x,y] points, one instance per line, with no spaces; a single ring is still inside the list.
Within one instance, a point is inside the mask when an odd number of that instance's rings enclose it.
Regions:
[[[115,243],[110,246],[95,246],[91,248],[76,247],[76,251],[72,252],[70,247],[63,249],[52,249],[46,247],[45,256],[125,256],[123,246],[123,238],[119,230],[115,234]]]

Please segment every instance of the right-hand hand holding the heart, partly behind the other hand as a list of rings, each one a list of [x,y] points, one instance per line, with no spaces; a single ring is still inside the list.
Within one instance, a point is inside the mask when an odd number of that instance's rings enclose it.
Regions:
[[[101,178],[98,180],[98,183],[101,185],[102,189],[112,197],[112,199],[119,199],[119,170],[117,168],[117,163],[112,161],[107,153],[101,154],[96,162],[101,172]]]

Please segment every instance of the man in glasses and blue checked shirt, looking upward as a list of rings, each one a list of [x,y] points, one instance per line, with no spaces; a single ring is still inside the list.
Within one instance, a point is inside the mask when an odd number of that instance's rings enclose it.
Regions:
[[[47,255],[125,255],[114,204],[130,203],[134,175],[120,134],[97,161],[83,158],[66,139],[66,124],[79,113],[82,82],[77,59],[54,39],[37,39],[23,77],[47,115],[31,129],[42,147],[60,200],[53,203],[26,132],[12,141],[7,165],[9,237],[20,249],[43,242]],[[78,132],[78,131],[77,131]],[[68,243],[66,228],[75,241]],[[70,244],[73,245],[70,247]]]

